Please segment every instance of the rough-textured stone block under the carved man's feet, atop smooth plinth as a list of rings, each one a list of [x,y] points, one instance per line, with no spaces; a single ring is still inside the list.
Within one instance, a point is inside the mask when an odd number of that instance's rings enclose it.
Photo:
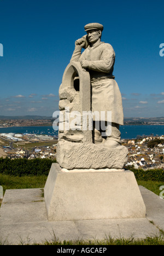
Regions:
[[[72,169],[122,169],[127,163],[128,149],[104,147],[103,144],[84,144],[59,141],[57,162],[62,168]]]

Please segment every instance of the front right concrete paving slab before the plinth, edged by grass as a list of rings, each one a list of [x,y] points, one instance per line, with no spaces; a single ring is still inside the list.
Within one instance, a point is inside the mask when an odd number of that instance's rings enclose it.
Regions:
[[[145,238],[150,235],[159,234],[159,230],[148,219],[97,219],[97,220],[78,220],[75,225],[84,240],[115,237]]]

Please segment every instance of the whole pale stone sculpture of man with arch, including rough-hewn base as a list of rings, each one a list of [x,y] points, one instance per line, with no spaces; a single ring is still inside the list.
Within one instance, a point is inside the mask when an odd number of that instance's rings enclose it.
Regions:
[[[85,26],[87,35],[75,42],[59,90],[57,162],[68,170],[120,169],[127,162],[119,131],[124,115],[113,75],[115,53],[110,44],[101,42],[102,30],[98,23]]]

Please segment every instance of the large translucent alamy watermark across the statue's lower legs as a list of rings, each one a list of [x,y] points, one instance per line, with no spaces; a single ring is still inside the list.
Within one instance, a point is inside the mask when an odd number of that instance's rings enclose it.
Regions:
[[[52,127],[55,131],[92,131],[93,120],[95,120],[95,129],[102,130],[102,136],[110,136],[112,133],[112,111],[78,111],[69,112],[69,107],[64,111],[55,111],[52,115],[56,118]],[[106,121],[104,121],[106,120]]]

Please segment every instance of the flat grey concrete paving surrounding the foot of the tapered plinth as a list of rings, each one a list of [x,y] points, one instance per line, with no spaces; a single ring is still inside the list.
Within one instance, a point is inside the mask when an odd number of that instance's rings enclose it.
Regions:
[[[0,243],[20,245],[63,240],[145,238],[160,235],[164,228],[164,200],[140,187],[147,217],[48,222],[43,189],[6,190],[0,208]],[[150,220],[153,223],[150,223]]]

